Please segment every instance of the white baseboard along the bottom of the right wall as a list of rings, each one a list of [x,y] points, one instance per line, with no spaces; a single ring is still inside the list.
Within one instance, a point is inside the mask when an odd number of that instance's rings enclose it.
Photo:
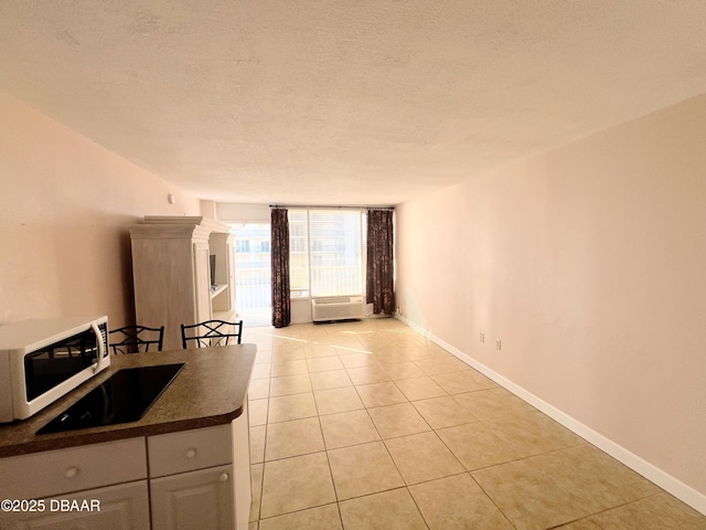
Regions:
[[[400,317],[399,315],[396,315],[395,317],[397,318],[397,320],[402,321],[406,326],[410,327],[415,331],[428,338],[435,344],[440,346],[441,348],[447,350],[449,353],[453,354],[461,361],[466,362],[471,368],[478,370],[486,378],[493,380],[494,382],[496,382],[507,391],[512,392],[517,398],[526,401],[538,411],[543,412],[547,416],[552,417],[553,420],[564,425],[566,428],[573,431],[574,433],[578,434],[580,437],[582,437],[587,442],[593,444],[599,449],[606,452],[607,454],[616,458],[618,462],[624,464],[635,473],[639,473],[640,475],[645,477],[648,480],[656,484],[659,487],[661,487],[665,491],[668,491],[674,497],[687,504],[695,510],[706,515],[706,495],[702,494],[700,491],[697,491],[696,489],[682,483],[681,480],[677,480],[668,473],[660,469],[659,467],[641,458],[634,453],[631,453],[630,451],[625,449],[621,445],[618,445],[610,438],[607,438],[602,434],[593,431],[589,426],[584,425],[581,422],[561,412],[554,405],[537,398],[533,393],[527,392],[522,386],[513,383],[512,381],[504,378],[503,375],[494,372],[486,365],[478,362],[475,359],[467,356],[458,348],[454,348],[453,346],[445,342],[443,340],[439,339],[438,337],[434,336],[427,330],[420,328],[416,324],[407,320],[406,318]]]

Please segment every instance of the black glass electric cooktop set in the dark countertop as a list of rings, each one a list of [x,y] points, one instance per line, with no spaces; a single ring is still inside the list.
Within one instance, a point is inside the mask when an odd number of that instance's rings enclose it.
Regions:
[[[152,406],[182,368],[183,362],[118,370],[36,434],[136,422]]]

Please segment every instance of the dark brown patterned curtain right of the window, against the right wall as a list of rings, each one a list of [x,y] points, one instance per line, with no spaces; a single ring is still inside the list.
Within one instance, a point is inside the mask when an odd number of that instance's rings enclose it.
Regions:
[[[365,292],[375,315],[395,311],[393,251],[393,211],[368,210]]]

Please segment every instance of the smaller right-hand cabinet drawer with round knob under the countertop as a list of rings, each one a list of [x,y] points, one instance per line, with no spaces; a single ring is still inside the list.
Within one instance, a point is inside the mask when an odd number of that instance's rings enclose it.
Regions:
[[[147,438],[150,477],[231,464],[231,424]]]

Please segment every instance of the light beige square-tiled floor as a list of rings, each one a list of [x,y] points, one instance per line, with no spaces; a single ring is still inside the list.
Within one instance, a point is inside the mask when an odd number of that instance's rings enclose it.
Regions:
[[[250,530],[706,529],[394,319],[246,328]]]

